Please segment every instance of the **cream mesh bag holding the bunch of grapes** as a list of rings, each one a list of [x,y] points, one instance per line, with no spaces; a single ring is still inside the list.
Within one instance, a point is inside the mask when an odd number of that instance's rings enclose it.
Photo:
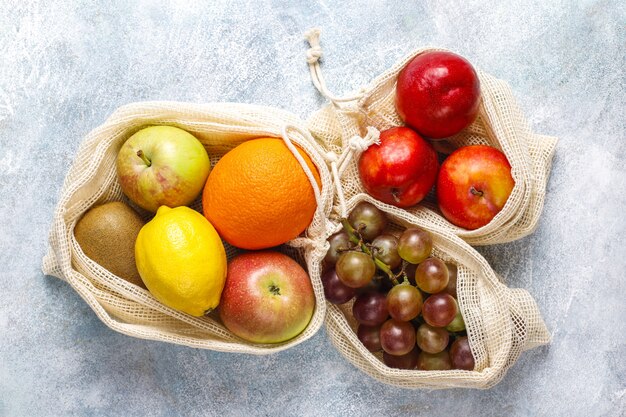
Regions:
[[[328,304],[326,329],[333,345],[351,363],[371,377],[402,388],[490,388],[498,383],[519,355],[546,344],[550,334],[537,304],[523,289],[507,288],[487,261],[449,229],[423,217],[358,194],[347,203],[348,211],[369,201],[384,211],[394,226],[416,226],[433,236],[433,256],[458,267],[458,305],[464,317],[474,371],[420,371],[387,367],[381,354],[369,352],[356,336],[358,323],[352,303]]]

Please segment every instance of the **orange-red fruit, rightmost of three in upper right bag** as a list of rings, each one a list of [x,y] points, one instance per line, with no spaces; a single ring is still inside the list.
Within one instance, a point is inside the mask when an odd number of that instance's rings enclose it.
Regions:
[[[441,165],[439,209],[451,223],[477,229],[489,223],[509,198],[515,180],[506,156],[491,146],[464,146]]]

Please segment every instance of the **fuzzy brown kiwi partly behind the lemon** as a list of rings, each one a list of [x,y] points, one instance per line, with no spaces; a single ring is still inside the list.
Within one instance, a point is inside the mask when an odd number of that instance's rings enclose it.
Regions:
[[[126,204],[114,201],[88,210],[74,227],[85,255],[120,278],[146,288],[135,265],[135,241],[145,222]]]

